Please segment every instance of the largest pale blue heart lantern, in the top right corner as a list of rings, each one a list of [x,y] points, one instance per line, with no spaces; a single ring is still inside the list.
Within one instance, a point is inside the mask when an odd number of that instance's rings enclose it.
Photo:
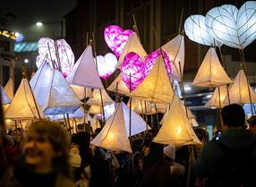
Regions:
[[[205,24],[218,41],[243,49],[256,38],[256,2],[245,2],[239,11],[230,4],[215,7],[206,14]]]

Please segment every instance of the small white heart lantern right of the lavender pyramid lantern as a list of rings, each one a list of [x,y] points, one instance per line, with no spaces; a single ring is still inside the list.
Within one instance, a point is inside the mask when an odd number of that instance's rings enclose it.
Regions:
[[[107,80],[107,78],[115,72],[115,65],[117,64],[117,59],[115,55],[108,53],[107,55],[98,55],[97,62],[98,65],[98,75],[99,77]]]

